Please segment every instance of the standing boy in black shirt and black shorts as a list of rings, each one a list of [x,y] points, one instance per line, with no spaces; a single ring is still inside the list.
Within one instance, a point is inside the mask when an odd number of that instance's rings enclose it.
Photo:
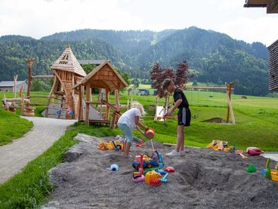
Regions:
[[[164,116],[171,116],[175,109],[179,108],[178,112],[178,127],[177,127],[177,146],[172,152],[167,153],[166,156],[183,156],[184,155],[184,126],[190,125],[191,113],[186,95],[180,88],[174,86],[171,79],[165,79],[162,84],[163,90],[169,93],[174,92],[174,106],[167,111]]]

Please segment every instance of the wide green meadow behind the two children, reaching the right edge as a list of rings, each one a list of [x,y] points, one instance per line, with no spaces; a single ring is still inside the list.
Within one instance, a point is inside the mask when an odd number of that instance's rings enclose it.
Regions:
[[[186,145],[204,147],[213,139],[229,141],[238,148],[245,150],[248,146],[258,146],[263,150],[278,149],[278,99],[247,96],[247,99],[240,95],[232,95],[231,102],[236,118],[236,125],[224,125],[218,123],[204,123],[202,121],[210,118],[227,117],[227,96],[223,91],[185,91],[190,104],[192,114],[197,118],[191,118],[190,127],[186,127]],[[47,95],[48,93],[31,93],[31,95]],[[1,93],[0,93],[1,96]],[[9,96],[9,95],[8,95]],[[6,97],[8,98],[6,95]],[[12,94],[10,94],[10,97]],[[97,100],[97,95],[92,96]],[[114,96],[111,95],[111,102]],[[131,95],[126,91],[121,92],[121,104],[130,102]],[[134,95],[133,100],[141,102],[147,115],[143,118],[146,125],[156,130],[155,140],[167,143],[176,142],[177,121],[169,119],[167,122],[155,122],[155,97],[154,95]],[[35,115],[40,116],[40,111],[46,104],[44,98],[33,98],[31,103],[35,105]],[[172,101],[172,98],[170,99]],[[161,99],[159,105],[163,105]],[[108,127],[107,127],[108,128]],[[139,136],[139,135],[138,135]]]

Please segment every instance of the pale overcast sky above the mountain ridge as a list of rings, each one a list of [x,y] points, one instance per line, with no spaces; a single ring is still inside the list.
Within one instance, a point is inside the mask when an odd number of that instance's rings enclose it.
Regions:
[[[152,30],[197,26],[268,46],[278,14],[245,0],[0,0],[0,36],[42,38],[77,29]]]

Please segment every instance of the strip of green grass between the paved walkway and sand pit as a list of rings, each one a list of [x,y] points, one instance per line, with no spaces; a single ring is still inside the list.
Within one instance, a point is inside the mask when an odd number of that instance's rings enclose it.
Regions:
[[[79,132],[97,137],[120,133],[119,130],[113,131],[107,127],[88,127],[76,123],[51,148],[29,162],[21,173],[0,185],[0,208],[38,208],[54,189],[49,184],[47,171],[63,162],[63,153],[76,144],[72,139]]]

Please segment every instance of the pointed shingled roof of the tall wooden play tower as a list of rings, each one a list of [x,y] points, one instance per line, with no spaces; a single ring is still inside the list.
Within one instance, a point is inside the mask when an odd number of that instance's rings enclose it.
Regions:
[[[77,61],[76,57],[72,53],[70,45],[67,45],[67,48],[65,49],[63,54],[61,54],[60,57],[55,61],[55,63],[51,65],[51,70],[65,70],[74,72],[75,74],[81,76],[86,75],[79,61]]]

